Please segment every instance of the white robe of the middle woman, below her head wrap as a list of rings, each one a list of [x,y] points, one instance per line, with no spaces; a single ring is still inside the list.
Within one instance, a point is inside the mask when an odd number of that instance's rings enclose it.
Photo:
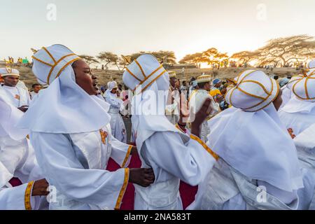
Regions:
[[[200,142],[186,138],[185,142],[179,133],[155,132],[144,141],[142,167],[152,167],[155,182],[148,188],[135,186],[135,210],[183,209],[180,180],[197,186],[213,167],[214,157]]]

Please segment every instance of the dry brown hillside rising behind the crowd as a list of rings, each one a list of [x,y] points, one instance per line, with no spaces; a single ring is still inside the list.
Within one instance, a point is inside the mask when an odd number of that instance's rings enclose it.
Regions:
[[[21,80],[25,82],[27,87],[31,87],[32,84],[36,83],[36,78],[31,71],[31,68],[26,66],[14,66],[18,69],[21,74]],[[247,69],[256,69],[256,68],[247,68]],[[214,78],[235,78],[241,71],[244,71],[244,68],[223,68],[223,69],[185,69],[183,75],[182,69],[172,69],[170,71],[176,71],[178,78],[182,81],[185,79],[190,80],[191,77],[201,76],[202,73],[207,75],[212,75]],[[259,69],[267,72],[265,69]],[[123,71],[118,70],[101,70],[93,69],[92,72],[99,78],[99,85],[106,85],[110,80],[116,80],[118,83],[122,83]],[[288,75],[295,75],[300,73],[300,70],[295,68],[275,68],[273,71],[269,71],[270,74],[277,75],[279,77],[285,77]]]

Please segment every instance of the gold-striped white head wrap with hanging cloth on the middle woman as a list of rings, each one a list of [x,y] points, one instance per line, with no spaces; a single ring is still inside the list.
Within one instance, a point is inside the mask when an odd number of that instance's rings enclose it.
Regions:
[[[127,87],[135,92],[132,98],[132,127],[137,132],[141,149],[154,132],[179,132],[165,116],[169,90],[169,74],[153,55],[141,55],[127,66],[123,74]]]

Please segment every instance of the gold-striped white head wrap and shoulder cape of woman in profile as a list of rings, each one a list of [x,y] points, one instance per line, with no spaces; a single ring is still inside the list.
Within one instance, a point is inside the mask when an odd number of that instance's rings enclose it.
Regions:
[[[33,59],[35,76],[50,85],[38,94],[20,127],[33,132],[73,134],[94,132],[109,123],[109,104],[76,84],[71,64],[80,57],[64,45],[52,45],[38,50]]]

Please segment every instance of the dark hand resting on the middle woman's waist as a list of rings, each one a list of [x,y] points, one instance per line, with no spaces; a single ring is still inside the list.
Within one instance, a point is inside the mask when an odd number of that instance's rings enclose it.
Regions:
[[[129,182],[136,183],[142,187],[148,187],[154,183],[155,176],[153,169],[134,168],[130,169]]]

